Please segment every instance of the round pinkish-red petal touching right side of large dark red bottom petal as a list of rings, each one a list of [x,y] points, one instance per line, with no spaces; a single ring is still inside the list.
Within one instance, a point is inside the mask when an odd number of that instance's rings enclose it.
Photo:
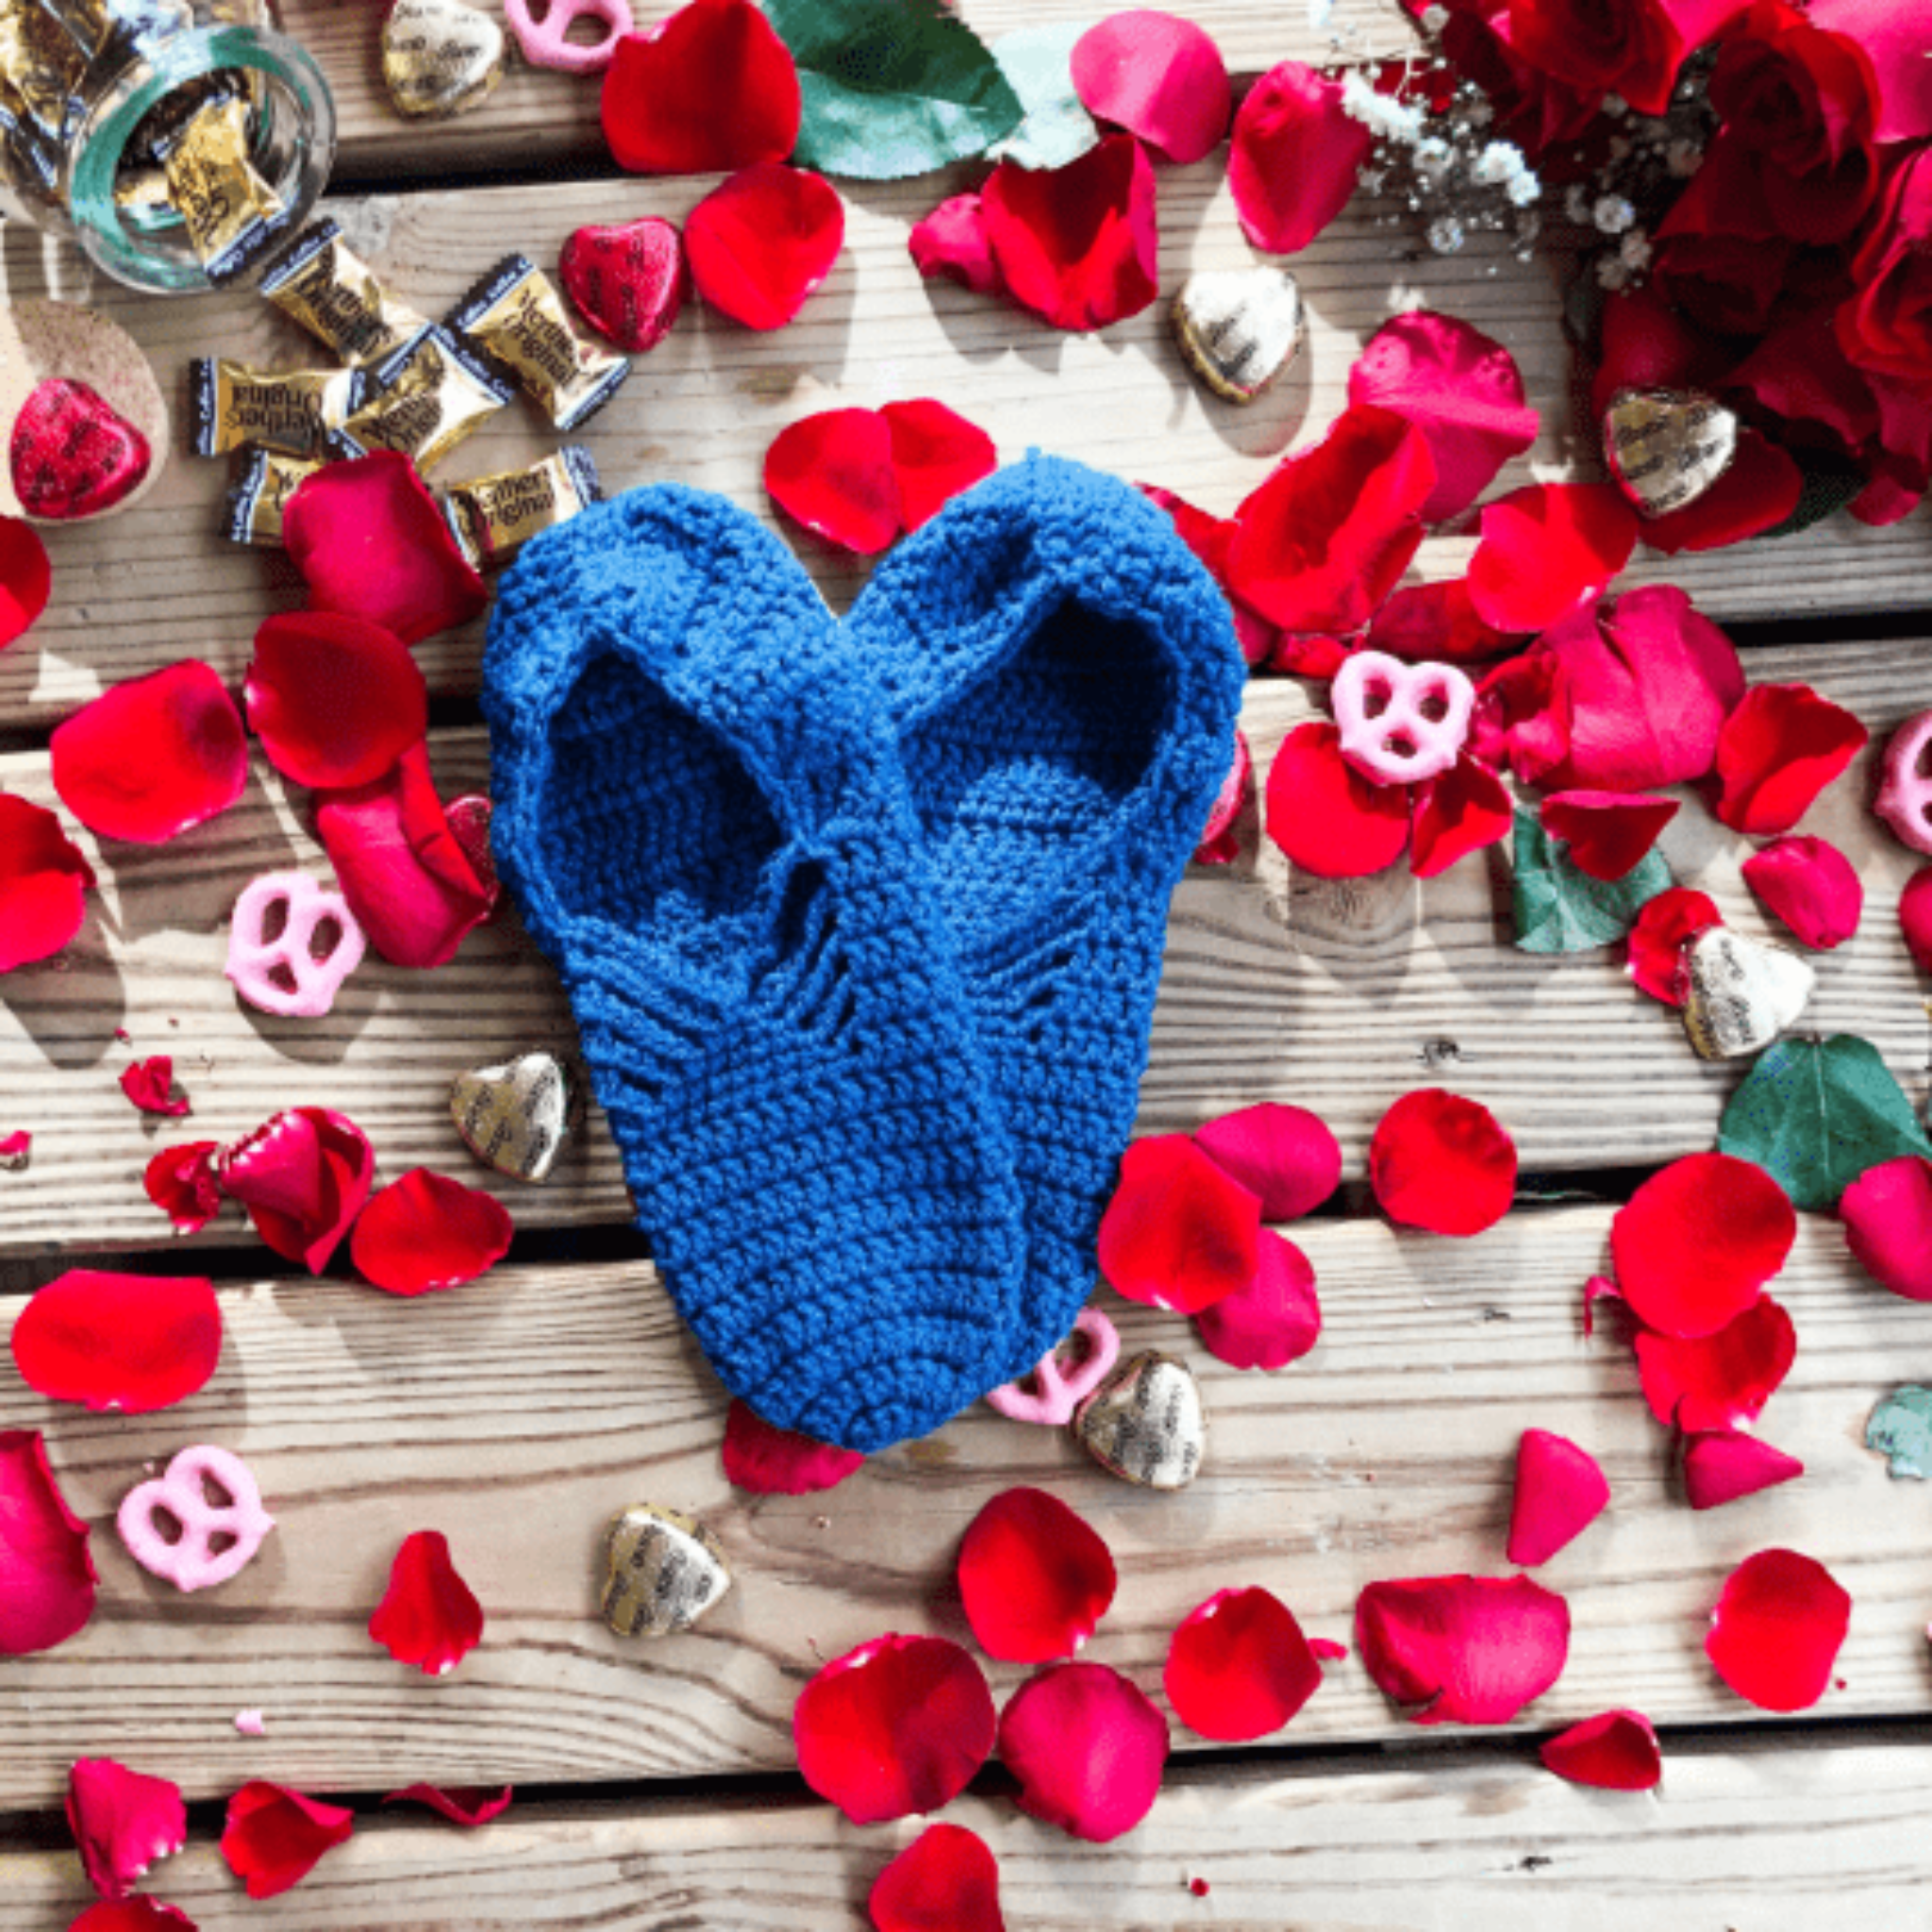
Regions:
[[[1105,1663],[1055,1663],[1007,1700],[999,1756],[1020,1810],[1105,1845],[1153,1810],[1167,1719]]]

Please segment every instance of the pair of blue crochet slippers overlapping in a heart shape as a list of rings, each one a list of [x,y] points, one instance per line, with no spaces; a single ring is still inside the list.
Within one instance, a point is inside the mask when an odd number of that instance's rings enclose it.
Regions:
[[[1039,456],[844,622],[680,485],[506,574],[497,860],[665,1285],[769,1422],[922,1435],[1072,1325],[1242,676],[1167,516]]]

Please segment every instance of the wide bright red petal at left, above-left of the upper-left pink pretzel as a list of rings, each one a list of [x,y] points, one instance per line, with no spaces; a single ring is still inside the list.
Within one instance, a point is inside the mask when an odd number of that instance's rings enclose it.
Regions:
[[[199,659],[129,678],[54,726],[54,790],[102,838],[164,844],[247,784],[242,713]]]

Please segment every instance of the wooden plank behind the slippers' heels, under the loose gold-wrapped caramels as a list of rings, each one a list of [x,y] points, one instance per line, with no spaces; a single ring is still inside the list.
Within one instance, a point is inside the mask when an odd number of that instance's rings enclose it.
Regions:
[[[363,21],[340,10],[338,17]],[[653,211],[682,218],[707,187],[589,182],[471,189],[369,197],[340,213],[384,276],[435,315],[506,247],[554,261],[583,222]],[[1252,259],[1219,164],[1169,172],[1161,203],[1167,288],[1179,288],[1192,267]],[[920,282],[906,230],[929,205],[931,189],[920,184],[856,199],[846,255],[790,328],[753,334],[694,305],[665,344],[636,359],[624,392],[582,437],[607,489],[674,477],[775,518],[761,466],[784,423],[838,404],[933,394],[980,421],[1007,460],[1041,444],[1229,512],[1275,456],[1333,421],[1360,340],[1416,301],[1505,340],[1546,412],[1542,440],[1503,483],[1580,473],[1567,404],[1569,352],[1544,265],[1522,267],[1499,247],[1403,265],[1391,259],[1391,232],[1356,213],[1296,257],[1308,346],[1279,392],[1242,412],[1206,396],[1186,375],[1165,305],[1105,336],[1063,336],[999,301]],[[35,236],[12,230],[4,259],[15,296],[44,284]],[[137,334],[174,398],[185,398],[191,355],[216,350],[292,367],[313,365],[321,354],[249,296],[156,303],[106,286],[93,294]],[[450,458],[442,479],[531,462],[556,442],[520,402]],[[176,456],[151,497],[106,524],[50,533],[54,603],[27,638],[0,653],[0,728],[52,724],[106,684],[185,655],[240,680],[255,626],[270,609],[299,599],[299,580],[280,553],[238,549],[216,535],[228,468],[184,450],[185,425],[178,423]],[[1719,618],[1907,609],[1924,603],[1926,529],[1922,518],[1884,531],[1835,518],[1776,545],[1675,562],[1648,558],[1627,582],[1683,583]],[[831,601],[848,603],[864,566],[788,535]],[[1470,547],[1466,537],[1432,539],[1416,576],[1459,574]],[[479,643],[481,626],[469,626],[421,647],[437,692],[475,688]]]

